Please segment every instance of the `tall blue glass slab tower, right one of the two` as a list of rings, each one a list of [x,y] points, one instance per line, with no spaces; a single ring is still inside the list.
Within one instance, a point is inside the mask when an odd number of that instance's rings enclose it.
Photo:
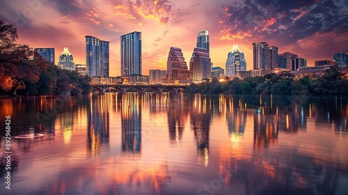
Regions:
[[[141,32],[121,36],[121,75],[141,75]]]

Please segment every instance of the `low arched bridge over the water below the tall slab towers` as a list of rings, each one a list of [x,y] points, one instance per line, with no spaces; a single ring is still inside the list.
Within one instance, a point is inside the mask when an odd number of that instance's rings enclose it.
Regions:
[[[134,88],[139,93],[145,93],[146,91],[153,90],[155,93],[162,93],[164,89],[168,90],[171,93],[177,93],[179,90],[186,88],[187,85],[174,85],[174,84],[118,84],[118,83],[109,83],[109,82],[91,82],[90,86],[96,88],[103,93],[109,90],[117,90],[122,93],[127,92],[130,88]]]

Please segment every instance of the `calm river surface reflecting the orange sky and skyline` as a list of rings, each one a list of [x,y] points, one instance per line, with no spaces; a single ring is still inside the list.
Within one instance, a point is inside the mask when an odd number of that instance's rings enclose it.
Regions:
[[[0,194],[348,194],[347,97],[106,93],[0,107]],[[34,132],[45,136],[15,139]]]

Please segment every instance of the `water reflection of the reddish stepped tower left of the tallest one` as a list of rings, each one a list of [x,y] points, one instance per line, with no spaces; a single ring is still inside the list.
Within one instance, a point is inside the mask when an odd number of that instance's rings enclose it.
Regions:
[[[187,104],[183,93],[171,93],[168,98],[168,128],[171,143],[177,143],[182,139],[184,123],[187,119]]]

